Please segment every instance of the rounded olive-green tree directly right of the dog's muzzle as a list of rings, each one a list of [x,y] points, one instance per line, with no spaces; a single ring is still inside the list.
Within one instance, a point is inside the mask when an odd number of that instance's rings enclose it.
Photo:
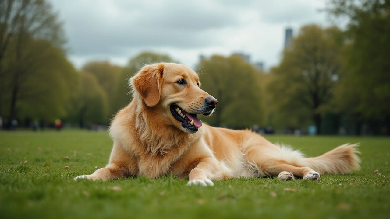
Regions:
[[[197,69],[201,88],[218,100],[215,114],[202,120],[218,127],[243,128],[262,122],[260,72],[240,56],[214,55]]]

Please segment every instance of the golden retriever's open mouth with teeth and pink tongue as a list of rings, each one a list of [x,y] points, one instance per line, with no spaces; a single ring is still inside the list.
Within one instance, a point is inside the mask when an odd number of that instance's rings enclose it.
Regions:
[[[176,104],[171,104],[170,111],[173,117],[181,122],[183,128],[189,129],[192,132],[197,132],[198,128],[202,127],[202,121],[200,121],[196,114],[188,113]]]

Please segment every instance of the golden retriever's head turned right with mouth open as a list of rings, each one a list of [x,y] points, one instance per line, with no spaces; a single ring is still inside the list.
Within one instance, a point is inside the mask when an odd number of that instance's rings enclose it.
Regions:
[[[145,107],[165,114],[167,119],[162,122],[188,133],[195,133],[202,126],[197,114],[211,115],[218,102],[200,89],[198,75],[185,65],[145,65],[130,83]]]

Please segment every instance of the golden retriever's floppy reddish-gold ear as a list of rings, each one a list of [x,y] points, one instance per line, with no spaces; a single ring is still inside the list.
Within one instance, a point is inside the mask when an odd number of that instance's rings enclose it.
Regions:
[[[131,78],[131,85],[141,95],[146,105],[150,107],[156,106],[160,101],[164,67],[163,63],[145,65]]]

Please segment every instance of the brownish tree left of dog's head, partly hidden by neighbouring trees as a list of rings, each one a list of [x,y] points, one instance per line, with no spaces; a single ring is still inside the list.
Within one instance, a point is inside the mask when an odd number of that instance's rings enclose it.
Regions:
[[[115,106],[116,87],[122,69],[121,66],[112,65],[108,61],[92,61],[82,67],[83,72],[90,72],[97,79],[97,82],[106,93],[108,104],[106,118],[112,118],[117,111]]]

